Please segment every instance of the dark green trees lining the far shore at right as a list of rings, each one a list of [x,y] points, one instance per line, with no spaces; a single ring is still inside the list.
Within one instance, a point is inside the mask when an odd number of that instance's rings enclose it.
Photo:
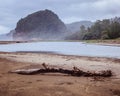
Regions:
[[[116,39],[120,37],[120,23],[114,19],[98,20],[91,27],[80,26],[80,31],[67,37],[70,40]]]

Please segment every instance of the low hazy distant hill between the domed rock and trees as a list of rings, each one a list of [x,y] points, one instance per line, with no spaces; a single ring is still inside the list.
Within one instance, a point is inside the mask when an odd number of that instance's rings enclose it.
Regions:
[[[77,31],[80,31],[80,26],[84,25],[86,28],[91,27],[93,25],[93,22],[91,21],[79,21],[79,22],[73,22],[70,24],[66,24],[67,30],[71,33],[75,33]]]

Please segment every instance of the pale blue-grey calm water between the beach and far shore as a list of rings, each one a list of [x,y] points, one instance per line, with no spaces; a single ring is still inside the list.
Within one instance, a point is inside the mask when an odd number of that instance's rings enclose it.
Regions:
[[[43,51],[65,55],[120,58],[120,47],[85,44],[81,42],[35,42],[0,45],[0,51]]]

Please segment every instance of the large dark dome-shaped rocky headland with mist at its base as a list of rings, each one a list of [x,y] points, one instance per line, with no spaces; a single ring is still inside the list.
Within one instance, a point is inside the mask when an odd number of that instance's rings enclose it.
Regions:
[[[65,24],[50,10],[38,11],[18,21],[13,34],[15,40],[62,39]]]

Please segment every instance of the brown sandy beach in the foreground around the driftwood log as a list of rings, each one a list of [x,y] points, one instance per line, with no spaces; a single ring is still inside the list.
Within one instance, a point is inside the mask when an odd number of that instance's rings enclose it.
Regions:
[[[111,70],[112,77],[73,77],[60,73],[20,75],[11,70],[45,63],[85,71]],[[0,53],[0,96],[120,96],[120,60],[47,53]]]

